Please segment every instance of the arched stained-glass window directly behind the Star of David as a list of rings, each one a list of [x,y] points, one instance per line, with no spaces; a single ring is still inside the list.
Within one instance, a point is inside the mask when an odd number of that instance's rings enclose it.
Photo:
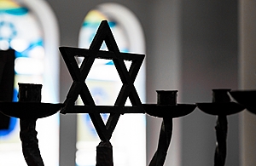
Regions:
[[[90,10],[85,16],[79,33],[80,48],[89,48],[102,20],[108,20],[120,52],[145,54],[143,30],[140,23],[129,9],[116,3],[98,5],[96,9]],[[101,49],[107,49],[104,43]],[[125,65],[129,68],[130,64],[128,62]],[[96,105],[113,106],[121,88],[121,81],[112,60],[96,60],[86,82]],[[145,102],[144,66],[137,76],[135,86],[140,99]],[[129,101],[126,102],[126,105],[129,105]],[[106,119],[108,115],[103,114],[102,117]],[[144,115],[125,114],[120,117],[111,139],[115,165],[146,165],[145,130]],[[100,140],[87,114],[78,117],[77,138],[76,164],[78,166],[95,165],[96,146]],[[129,142],[129,144],[125,142]]]

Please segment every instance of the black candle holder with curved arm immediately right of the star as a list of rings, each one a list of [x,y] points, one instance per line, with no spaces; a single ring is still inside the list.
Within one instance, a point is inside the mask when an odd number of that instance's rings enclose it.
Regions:
[[[157,90],[157,104],[144,104],[145,112],[153,117],[161,117],[162,123],[158,147],[149,166],[162,166],[172,140],[172,118],[183,117],[195,110],[195,105],[177,104],[177,90]]]

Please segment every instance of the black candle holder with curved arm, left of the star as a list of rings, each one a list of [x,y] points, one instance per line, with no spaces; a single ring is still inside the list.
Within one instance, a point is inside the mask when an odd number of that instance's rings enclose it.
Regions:
[[[22,152],[28,166],[44,166],[38,148],[38,118],[49,117],[58,112],[63,104],[41,103],[41,84],[18,83],[19,102],[0,102],[0,112],[20,118]]]

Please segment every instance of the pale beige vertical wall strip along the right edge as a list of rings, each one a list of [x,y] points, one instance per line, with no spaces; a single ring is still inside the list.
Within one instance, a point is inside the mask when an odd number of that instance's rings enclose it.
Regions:
[[[240,0],[240,89],[256,89],[256,2]],[[256,163],[256,115],[241,118],[241,165]]]

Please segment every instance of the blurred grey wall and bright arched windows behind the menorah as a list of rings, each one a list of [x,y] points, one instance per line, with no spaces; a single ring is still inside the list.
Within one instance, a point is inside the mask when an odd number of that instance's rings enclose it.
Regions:
[[[135,83],[143,103],[156,103],[155,90],[177,89],[178,103],[195,103],[212,102],[212,89],[256,89],[253,1],[0,0],[0,50],[15,49],[13,100],[17,83],[42,83],[42,102],[64,102],[72,78],[58,48],[88,49],[101,20],[121,52],[146,54]],[[121,82],[111,60],[96,60],[86,83],[97,105],[113,106]],[[255,116],[228,117],[227,166],[255,165]],[[198,109],[175,119],[166,165],[213,165],[215,121]],[[148,165],[160,123],[122,115],[111,140],[114,165]],[[100,140],[87,115],[39,119],[37,130],[46,166],[95,165]],[[0,165],[26,165],[20,148],[19,120],[10,118],[0,129]]]

